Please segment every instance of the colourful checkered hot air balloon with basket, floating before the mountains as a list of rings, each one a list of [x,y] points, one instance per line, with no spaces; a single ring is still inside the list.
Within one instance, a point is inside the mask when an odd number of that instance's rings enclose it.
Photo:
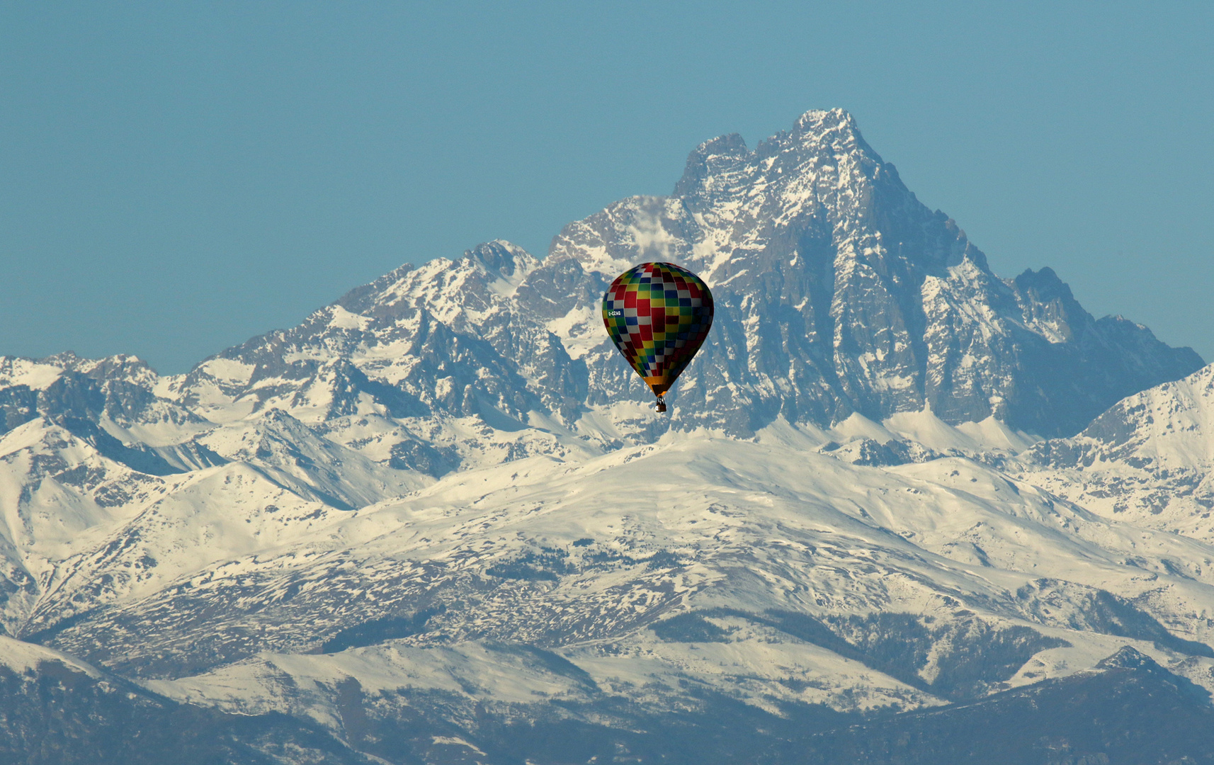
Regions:
[[[658,397],[691,363],[713,325],[713,294],[674,264],[641,264],[615,277],[603,294],[603,324],[612,342]]]

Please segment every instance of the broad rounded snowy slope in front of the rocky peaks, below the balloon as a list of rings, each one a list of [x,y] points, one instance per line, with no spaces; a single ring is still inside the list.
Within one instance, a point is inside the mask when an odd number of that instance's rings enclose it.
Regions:
[[[1214,685],[1214,651],[1186,642],[1214,639],[1193,618],[1214,608],[1214,572],[1195,565],[1209,546],[1102,520],[971,460],[856,466],[817,443],[787,425],[758,443],[699,432],[452,476],[280,556],[233,562],[186,597],[66,630],[61,645],[157,630],[123,667],[163,676],[153,651],[165,650],[182,652],[176,667],[225,658],[153,690],[337,732],[350,679],[380,713],[441,698],[469,719],[605,697],[670,709],[704,690],[770,710],[917,708],[1067,676],[1130,645]],[[161,616],[215,600],[237,604],[206,624],[215,635],[177,639]],[[300,634],[304,622],[314,631]],[[1010,635],[1023,651],[1005,672],[957,679]],[[849,652],[883,639],[921,640],[918,672]]]

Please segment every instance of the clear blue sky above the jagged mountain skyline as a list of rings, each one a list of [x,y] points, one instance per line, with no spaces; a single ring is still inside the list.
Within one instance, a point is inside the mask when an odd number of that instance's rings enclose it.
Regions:
[[[0,355],[161,373],[843,107],[1003,276],[1214,361],[1214,4],[0,4]]]

